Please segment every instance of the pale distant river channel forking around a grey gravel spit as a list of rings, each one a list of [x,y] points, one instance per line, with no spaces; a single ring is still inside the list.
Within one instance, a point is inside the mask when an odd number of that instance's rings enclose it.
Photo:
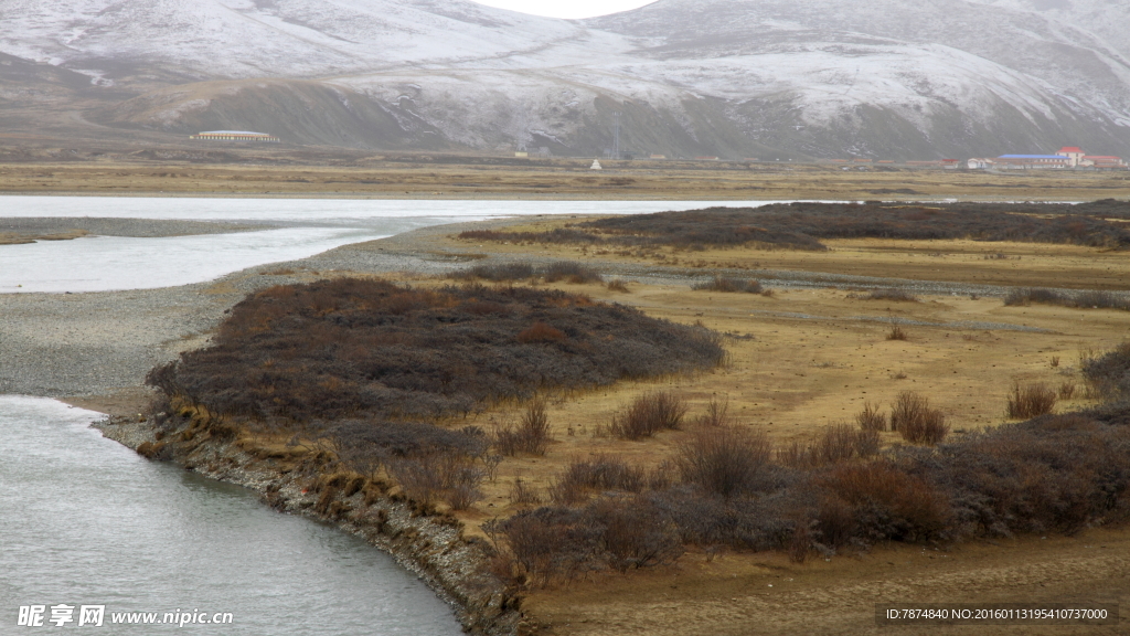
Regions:
[[[730,206],[772,201],[731,201]],[[641,214],[711,201],[489,201],[0,197],[2,217],[223,221],[263,230],[188,237],[89,237],[0,246],[0,293],[186,285],[306,258],[416,227],[528,214]]]

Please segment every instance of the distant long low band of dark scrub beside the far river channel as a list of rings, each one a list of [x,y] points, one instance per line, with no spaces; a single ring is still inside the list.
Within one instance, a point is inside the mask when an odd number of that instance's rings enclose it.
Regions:
[[[823,250],[820,239],[977,239],[1130,247],[1130,205],[1092,204],[774,204],[617,216],[548,232],[464,232],[461,238],[614,246],[745,246]]]

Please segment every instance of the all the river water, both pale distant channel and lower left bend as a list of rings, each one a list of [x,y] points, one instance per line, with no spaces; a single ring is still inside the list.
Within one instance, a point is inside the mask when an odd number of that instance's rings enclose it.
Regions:
[[[0,197],[0,217],[272,225],[0,246],[0,292],[179,285],[454,221],[706,205]],[[86,629],[78,622],[90,605],[104,608],[103,628],[94,633],[105,634],[460,633],[451,609],[388,555],[331,526],[278,514],[245,489],[142,459],[90,429],[98,416],[53,399],[0,395],[0,634],[37,633],[18,625],[27,618],[21,608],[34,605],[43,607],[49,630],[58,628],[53,607],[59,618],[73,608],[63,629]],[[162,622],[226,613],[231,624]],[[156,624],[122,622],[149,618]]]

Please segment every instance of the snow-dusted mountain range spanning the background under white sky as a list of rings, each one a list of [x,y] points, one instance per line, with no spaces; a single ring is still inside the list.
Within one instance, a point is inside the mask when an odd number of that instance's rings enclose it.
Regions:
[[[0,0],[0,53],[88,76],[84,100],[113,95],[85,112],[101,124],[555,154],[609,147],[614,112],[621,147],[668,156],[1130,154],[1128,28],[1103,0],[659,0],[589,20],[466,0]],[[0,84],[0,109],[26,95]]]

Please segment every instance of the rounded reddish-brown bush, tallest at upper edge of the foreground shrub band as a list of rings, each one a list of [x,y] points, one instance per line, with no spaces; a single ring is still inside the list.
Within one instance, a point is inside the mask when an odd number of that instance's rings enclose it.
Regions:
[[[711,495],[731,497],[757,489],[771,450],[763,432],[703,428],[679,444],[675,462],[687,483]]]

